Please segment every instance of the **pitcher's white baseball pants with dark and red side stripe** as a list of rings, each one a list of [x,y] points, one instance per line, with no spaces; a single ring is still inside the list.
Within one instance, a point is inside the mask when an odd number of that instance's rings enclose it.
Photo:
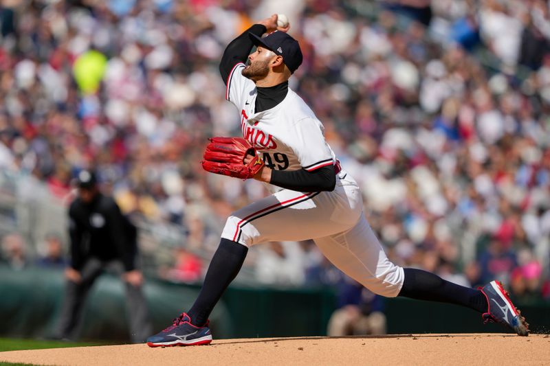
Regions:
[[[332,192],[281,190],[235,211],[221,237],[247,247],[313,239],[328,260],[373,293],[396,297],[403,286],[403,268],[388,260],[363,214],[359,187],[344,171]]]

